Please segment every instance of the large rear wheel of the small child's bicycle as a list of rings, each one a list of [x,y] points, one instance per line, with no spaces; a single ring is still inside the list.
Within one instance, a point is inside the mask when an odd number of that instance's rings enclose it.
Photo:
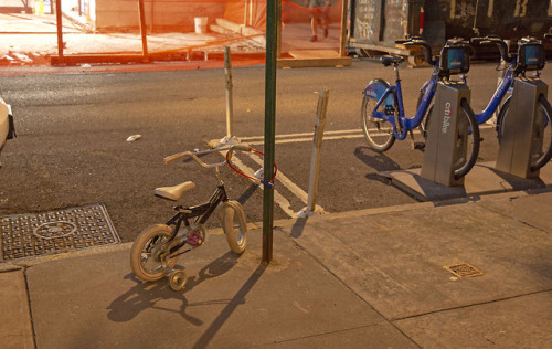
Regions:
[[[145,282],[162,278],[177,264],[177,258],[163,260],[163,247],[172,233],[164,224],[145,229],[136,239],[130,250],[130,266],[135,275]]]

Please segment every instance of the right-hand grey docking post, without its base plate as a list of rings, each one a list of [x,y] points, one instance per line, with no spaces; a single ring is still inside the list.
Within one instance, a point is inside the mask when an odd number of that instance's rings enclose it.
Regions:
[[[531,160],[543,146],[546,120],[538,117],[540,96],[546,97],[548,85],[539,78],[517,77],[510,108],[502,124],[502,139],[495,169],[521,178],[539,178],[540,168]]]

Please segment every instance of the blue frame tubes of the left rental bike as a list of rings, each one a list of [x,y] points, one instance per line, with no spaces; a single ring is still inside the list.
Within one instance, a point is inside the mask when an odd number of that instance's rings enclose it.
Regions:
[[[438,82],[438,74],[437,74],[437,66],[434,66],[432,77],[422,87],[422,91],[424,91],[424,96],[422,97],[422,102],[420,103],[416,114],[413,117],[408,118],[405,116],[404,113],[403,92],[401,87],[401,78],[399,77],[399,67],[393,66],[393,68],[395,70],[396,74],[395,85],[390,86],[389,88],[385,89],[380,99],[378,99],[378,103],[375,104],[375,107],[371,116],[391,123],[393,125],[393,135],[395,136],[395,138],[399,140],[403,140],[406,138],[408,131],[411,129],[416,128],[424,119],[424,116],[426,115],[427,109],[432,104],[433,97],[435,96],[435,91]],[[364,94],[367,94],[369,87],[370,85],[364,91]],[[378,108],[380,108],[382,103],[391,94],[395,96],[395,104],[399,110],[395,110],[393,115],[389,115],[385,112],[378,112]],[[401,134],[399,134],[397,131],[397,123],[401,123]]]

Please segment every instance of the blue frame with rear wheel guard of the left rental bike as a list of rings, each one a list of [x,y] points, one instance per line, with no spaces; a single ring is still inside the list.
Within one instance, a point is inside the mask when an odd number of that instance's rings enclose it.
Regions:
[[[399,140],[403,140],[406,138],[408,131],[411,129],[416,128],[424,119],[424,116],[426,115],[427,109],[432,104],[433,97],[435,96],[435,91],[438,82],[438,74],[437,74],[437,66],[435,65],[433,67],[432,78],[427,81],[422,87],[424,95],[416,110],[416,114],[413,117],[408,118],[405,117],[404,113],[403,93],[401,88],[401,80],[399,78],[399,71],[397,71],[399,68],[397,66],[393,66],[393,68],[395,70],[396,73],[396,81],[394,86],[389,86],[385,88],[386,83],[384,84],[383,81],[376,78],[371,81],[368,84],[367,88],[364,88],[364,95],[367,97],[378,99],[378,103],[371,116],[391,123],[393,125],[393,135],[395,136],[395,138]],[[378,96],[381,97],[378,98]],[[378,110],[380,106],[382,106],[382,104],[392,105],[393,103],[397,107],[399,114],[396,114],[396,110],[394,110],[392,115],[386,112]],[[397,131],[397,126],[396,126],[397,123],[401,123],[401,130],[402,130],[401,134],[399,134]]]

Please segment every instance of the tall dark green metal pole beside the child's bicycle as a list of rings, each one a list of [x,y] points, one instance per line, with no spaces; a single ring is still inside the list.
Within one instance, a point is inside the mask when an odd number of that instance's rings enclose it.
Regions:
[[[276,129],[276,59],[278,51],[278,22],[282,0],[266,1],[266,68],[265,68],[265,162],[264,180],[274,176]],[[273,258],[274,188],[263,191],[263,262]]]

